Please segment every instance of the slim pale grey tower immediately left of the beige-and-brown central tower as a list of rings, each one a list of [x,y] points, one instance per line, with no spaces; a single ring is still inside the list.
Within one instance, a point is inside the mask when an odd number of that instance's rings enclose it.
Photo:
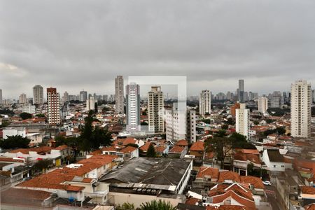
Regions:
[[[126,86],[127,132],[140,132],[140,86],[131,83]]]

